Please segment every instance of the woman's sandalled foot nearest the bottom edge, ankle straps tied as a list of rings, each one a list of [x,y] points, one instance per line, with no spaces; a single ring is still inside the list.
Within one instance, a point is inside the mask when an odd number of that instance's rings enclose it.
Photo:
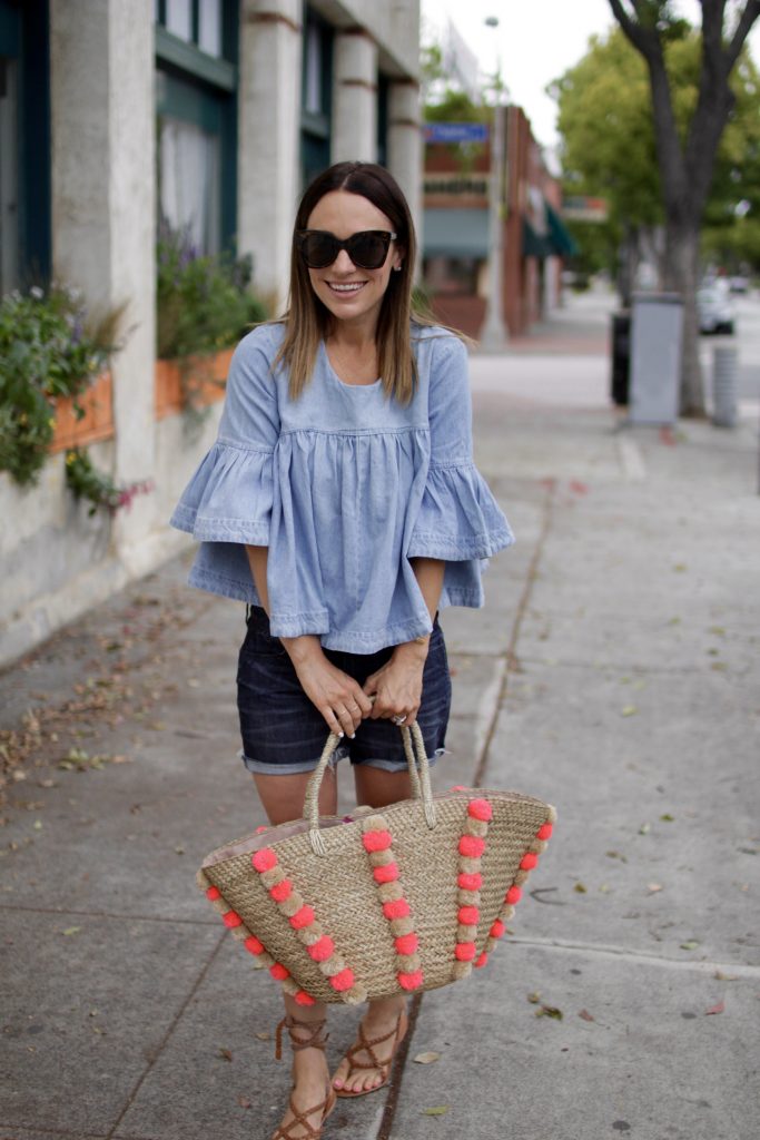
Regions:
[[[287,1018],[277,1027],[279,1035],[285,1026],[293,1048],[293,1089],[287,1112],[271,1140],[318,1140],[321,1127],[335,1107],[335,1092],[330,1089],[325,1060],[325,1023],[305,1023]]]

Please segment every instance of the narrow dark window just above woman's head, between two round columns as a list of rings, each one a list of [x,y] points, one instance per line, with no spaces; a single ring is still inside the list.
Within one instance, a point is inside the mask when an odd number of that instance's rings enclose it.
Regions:
[[[307,8],[303,27],[301,91],[301,182],[309,182],[330,163],[333,98],[333,28]]]

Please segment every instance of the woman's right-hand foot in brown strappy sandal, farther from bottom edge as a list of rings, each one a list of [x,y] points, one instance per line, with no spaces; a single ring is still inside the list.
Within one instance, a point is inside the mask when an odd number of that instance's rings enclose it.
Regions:
[[[358,1040],[333,1077],[333,1089],[338,1097],[363,1097],[382,1089],[407,1027],[403,997],[386,997],[369,1003],[359,1026]]]

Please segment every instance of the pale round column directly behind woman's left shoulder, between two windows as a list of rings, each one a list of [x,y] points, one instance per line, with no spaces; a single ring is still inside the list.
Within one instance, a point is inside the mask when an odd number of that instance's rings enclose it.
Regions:
[[[281,310],[300,197],[301,0],[243,0],[237,239],[256,290]]]

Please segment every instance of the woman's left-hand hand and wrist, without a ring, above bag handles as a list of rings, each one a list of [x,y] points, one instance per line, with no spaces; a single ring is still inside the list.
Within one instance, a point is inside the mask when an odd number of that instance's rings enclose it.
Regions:
[[[318,637],[280,637],[280,641],[301,687],[325,717],[329,731],[353,736],[373,707],[361,685],[328,661]]]

